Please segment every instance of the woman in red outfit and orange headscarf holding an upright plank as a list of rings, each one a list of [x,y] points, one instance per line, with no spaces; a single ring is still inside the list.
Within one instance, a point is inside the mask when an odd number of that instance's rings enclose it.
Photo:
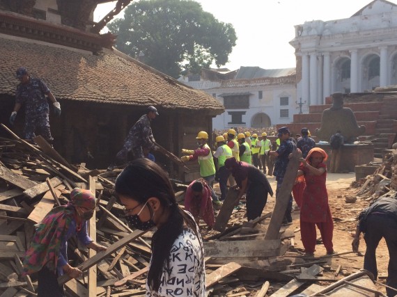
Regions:
[[[297,175],[304,175],[306,187],[300,209],[300,233],[306,256],[313,256],[316,250],[316,225],[320,230],[322,243],[327,255],[334,254],[332,235],[334,223],[329,210],[327,188],[327,153],[320,147],[309,151],[306,159],[302,159]]]

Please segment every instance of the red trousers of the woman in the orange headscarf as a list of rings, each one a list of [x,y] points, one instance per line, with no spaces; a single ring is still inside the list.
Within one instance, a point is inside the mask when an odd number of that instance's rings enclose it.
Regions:
[[[332,244],[332,235],[334,233],[332,216],[327,216],[327,221],[321,223],[309,223],[300,220],[300,235],[305,252],[314,252],[316,250],[316,225],[318,230],[320,230],[322,243],[327,249],[327,252],[332,252],[334,250],[334,245]]]

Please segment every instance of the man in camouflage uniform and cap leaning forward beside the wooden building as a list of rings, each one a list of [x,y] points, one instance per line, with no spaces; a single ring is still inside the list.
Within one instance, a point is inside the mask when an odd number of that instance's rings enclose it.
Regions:
[[[118,165],[127,163],[127,155],[131,150],[134,154],[134,159],[143,159],[145,156],[143,156],[142,147],[147,147],[150,150],[158,149],[150,127],[150,121],[154,120],[157,115],[159,113],[157,113],[155,106],[148,106],[146,114],[142,115],[128,132],[123,148],[116,154],[116,160],[109,165],[108,171],[114,170]]]

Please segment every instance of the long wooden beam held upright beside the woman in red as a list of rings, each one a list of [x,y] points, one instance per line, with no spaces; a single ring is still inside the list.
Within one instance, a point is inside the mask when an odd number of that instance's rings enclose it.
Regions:
[[[288,207],[291,191],[297,177],[297,170],[299,167],[299,158],[302,156],[298,151],[292,153],[292,158],[288,162],[286,174],[283,178],[280,191],[276,198],[276,205],[274,206],[272,218],[270,218],[269,227],[267,228],[265,239],[279,238],[281,223]]]

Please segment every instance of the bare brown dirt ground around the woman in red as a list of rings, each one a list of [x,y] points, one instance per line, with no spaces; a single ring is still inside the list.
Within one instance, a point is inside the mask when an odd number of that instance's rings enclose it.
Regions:
[[[276,179],[275,177],[268,177],[270,184],[275,192],[276,189]],[[355,229],[357,225],[357,218],[359,212],[369,205],[368,201],[365,199],[357,199],[354,203],[346,203],[345,196],[355,196],[359,188],[350,188],[350,184],[355,181],[355,173],[346,174],[327,174],[327,191],[329,197],[329,207],[331,209],[332,216],[334,218],[334,250],[336,252],[348,252],[352,250],[352,235],[355,234]],[[217,185],[216,185],[217,186]],[[215,191],[217,188],[215,186]],[[274,209],[275,199],[270,197],[267,199],[267,204],[263,213],[267,213]],[[294,202],[293,207],[296,204]],[[298,230],[299,228],[299,210],[293,212],[293,225],[289,228],[293,230]],[[320,237],[320,232],[317,232],[318,238]],[[295,232],[295,248],[304,250],[300,232]],[[341,271],[346,270],[347,273],[355,273],[359,269],[364,267],[364,253],[366,250],[366,244],[361,234],[359,250],[362,256],[355,253],[350,253],[346,255],[341,255],[338,257],[329,258],[328,265],[332,268],[341,265]],[[316,246],[315,257],[320,257],[326,254],[325,247],[319,243]],[[385,283],[385,277],[387,277],[387,266],[389,262],[389,252],[387,250],[387,245],[382,239],[376,251],[377,256],[377,270],[378,270],[378,281]],[[342,278],[339,274],[338,278]],[[318,283],[323,286],[332,284],[330,282]],[[386,293],[384,287],[380,284],[376,284],[377,288]]]

